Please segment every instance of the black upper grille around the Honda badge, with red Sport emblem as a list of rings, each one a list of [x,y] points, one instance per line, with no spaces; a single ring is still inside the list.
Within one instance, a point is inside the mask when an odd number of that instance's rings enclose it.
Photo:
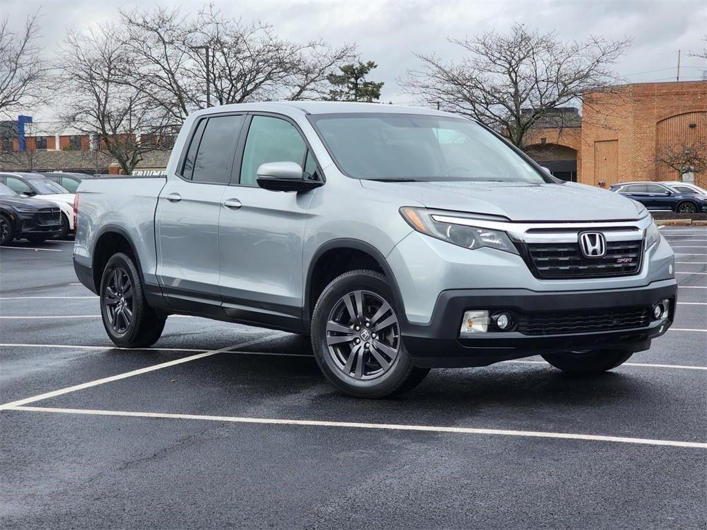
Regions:
[[[642,250],[642,240],[608,241],[604,257],[585,258],[577,242],[527,243],[527,259],[538,278],[628,276],[641,269]]]

